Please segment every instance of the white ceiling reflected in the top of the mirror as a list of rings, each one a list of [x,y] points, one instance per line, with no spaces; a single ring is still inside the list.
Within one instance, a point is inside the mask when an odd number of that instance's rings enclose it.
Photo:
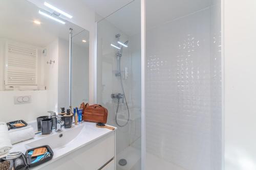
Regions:
[[[1,0],[0,37],[44,47],[58,37],[69,40],[70,28],[73,28],[74,35],[83,31],[69,21],[62,25],[42,16],[38,14],[38,10],[37,6],[26,0]],[[41,25],[36,25],[33,20],[39,20]],[[82,44],[82,39],[89,40],[88,31],[77,35],[75,43]]]

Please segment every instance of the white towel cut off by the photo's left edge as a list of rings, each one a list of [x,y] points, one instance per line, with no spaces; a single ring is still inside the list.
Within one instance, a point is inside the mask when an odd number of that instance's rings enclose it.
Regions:
[[[6,123],[0,122],[0,155],[7,153],[12,148],[8,127]]]

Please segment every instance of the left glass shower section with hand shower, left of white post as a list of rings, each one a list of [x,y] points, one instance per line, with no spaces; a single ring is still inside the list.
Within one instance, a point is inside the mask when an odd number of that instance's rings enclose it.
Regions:
[[[116,167],[141,169],[140,1],[98,21],[97,103],[117,127]]]

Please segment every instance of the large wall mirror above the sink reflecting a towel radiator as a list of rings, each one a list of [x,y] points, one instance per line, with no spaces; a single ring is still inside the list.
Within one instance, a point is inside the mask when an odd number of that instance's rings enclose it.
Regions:
[[[89,101],[87,30],[27,0],[1,0],[0,23],[0,122],[58,113],[70,106],[70,88],[73,107]]]

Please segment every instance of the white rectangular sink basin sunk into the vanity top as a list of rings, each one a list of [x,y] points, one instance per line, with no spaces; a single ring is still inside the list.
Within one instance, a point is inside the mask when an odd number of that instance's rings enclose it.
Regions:
[[[41,145],[49,145],[52,150],[59,150],[65,148],[72,140],[74,140],[78,134],[82,131],[84,126],[78,126],[70,128],[68,130],[57,132],[47,137],[26,143],[27,149],[40,147]]]

